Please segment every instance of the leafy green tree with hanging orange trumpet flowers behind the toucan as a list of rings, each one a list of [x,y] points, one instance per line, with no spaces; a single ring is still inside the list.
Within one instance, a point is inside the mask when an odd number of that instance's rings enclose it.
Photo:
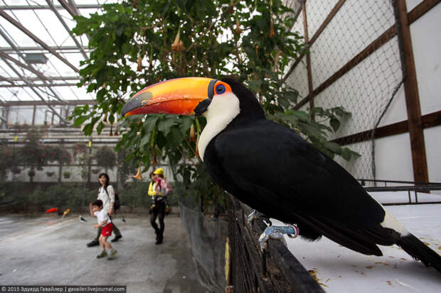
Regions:
[[[294,13],[281,0],[122,1],[75,20],[73,33],[87,35],[91,49],[78,85],[87,84],[96,103],[77,107],[71,118],[75,126],[85,124],[87,136],[94,128],[100,133],[107,117],[115,122],[124,105],[122,94],[175,77],[229,75],[255,92],[268,118],[297,128],[331,157],[349,160],[354,154],[326,139],[339,118],[349,115],[343,109],[313,109],[320,123],[312,113],[292,109],[298,93],[282,76],[307,48],[291,31]],[[195,136],[205,123],[188,116],[130,116],[119,124],[123,137],[117,148],[129,149],[127,160],[142,162],[144,170],[156,157],[169,160],[187,190],[197,187],[199,196],[216,197],[223,191],[195,159]]]

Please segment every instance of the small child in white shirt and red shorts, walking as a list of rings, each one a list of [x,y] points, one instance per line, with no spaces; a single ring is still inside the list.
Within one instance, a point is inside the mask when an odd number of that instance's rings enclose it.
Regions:
[[[101,199],[97,199],[93,201],[92,204],[89,204],[90,216],[96,216],[98,220],[98,224],[94,226],[94,228],[98,228],[101,226],[101,235],[100,235],[100,246],[102,249],[102,253],[97,255],[97,258],[105,258],[107,256],[106,248],[110,250],[110,255],[107,258],[108,260],[113,260],[115,255],[117,255],[117,250],[112,248],[112,245],[107,242],[107,238],[112,235],[112,221],[110,221],[110,217],[107,212],[102,209],[102,201]]]

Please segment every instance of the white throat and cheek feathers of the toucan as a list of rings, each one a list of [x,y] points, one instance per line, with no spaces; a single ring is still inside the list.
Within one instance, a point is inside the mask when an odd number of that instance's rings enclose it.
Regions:
[[[234,94],[213,96],[210,106],[203,114],[207,118],[207,125],[203,128],[198,141],[198,151],[203,160],[205,149],[210,141],[228,126],[228,123],[240,113],[240,102]]]

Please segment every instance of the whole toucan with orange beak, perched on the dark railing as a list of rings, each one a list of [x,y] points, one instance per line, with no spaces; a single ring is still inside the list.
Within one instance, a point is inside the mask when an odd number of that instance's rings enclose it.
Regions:
[[[297,224],[303,238],[326,236],[378,256],[377,245],[396,244],[441,272],[440,255],[338,163],[296,131],[267,120],[238,80],[170,79],[142,89],[122,109],[123,116],[152,113],[205,116],[198,150],[213,180],[266,216]]]

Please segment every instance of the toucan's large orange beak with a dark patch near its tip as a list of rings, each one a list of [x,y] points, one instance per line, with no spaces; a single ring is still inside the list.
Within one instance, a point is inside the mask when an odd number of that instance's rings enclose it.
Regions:
[[[153,84],[132,96],[122,108],[121,115],[191,115],[199,102],[213,96],[215,82],[216,79],[206,77],[183,77]]]

